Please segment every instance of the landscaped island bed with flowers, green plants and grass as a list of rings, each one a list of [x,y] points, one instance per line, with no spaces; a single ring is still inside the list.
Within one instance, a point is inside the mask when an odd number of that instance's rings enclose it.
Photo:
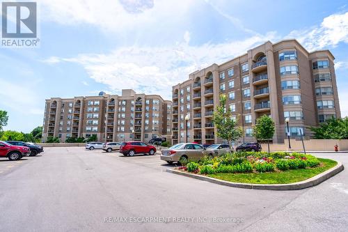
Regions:
[[[204,157],[199,162],[187,161],[178,169],[242,183],[293,183],[315,176],[335,164],[333,160],[301,153],[238,152]]]

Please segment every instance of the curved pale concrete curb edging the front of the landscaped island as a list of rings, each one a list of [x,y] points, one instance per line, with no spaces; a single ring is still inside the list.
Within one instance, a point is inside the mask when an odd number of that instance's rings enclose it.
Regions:
[[[280,185],[262,185],[262,184],[246,184],[246,183],[235,183],[235,182],[229,182],[226,180],[219,180],[216,178],[211,178],[208,176],[200,176],[193,173],[187,173],[183,171],[178,171],[175,169],[166,169],[166,171],[170,173],[175,173],[181,176],[188,176],[191,178],[196,178],[198,180],[205,180],[211,183],[215,183],[218,185],[226,185],[230,187],[242,187],[244,189],[253,189],[253,190],[302,190],[307,187],[313,187],[315,185],[319,185],[319,183],[322,183],[323,181],[331,178],[332,176],[335,176],[337,173],[340,173],[340,171],[343,171],[345,169],[341,162],[337,162],[337,165],[329,170],[324,171],[323,173],[318,174],[317,176],[313,176],[312,178],[309,178],[307,180],[303,180],[296,183],[291,184],[280,184]]]

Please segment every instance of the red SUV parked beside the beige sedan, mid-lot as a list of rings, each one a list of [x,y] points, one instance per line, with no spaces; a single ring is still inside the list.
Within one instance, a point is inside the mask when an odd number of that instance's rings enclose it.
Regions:
[[[156,148],[155,146],[146,145],[140,141],[129,141],[122,143],[120,146],[120,153],[123,155],[134,156],[135,154],[149,154],[155,155]]]

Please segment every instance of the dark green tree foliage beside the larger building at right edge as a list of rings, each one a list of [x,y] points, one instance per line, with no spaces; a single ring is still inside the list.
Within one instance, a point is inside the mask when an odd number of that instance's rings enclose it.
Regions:
[[[348,139],[348,117],[329,118],[319,127],[310,127],[315,139]]]

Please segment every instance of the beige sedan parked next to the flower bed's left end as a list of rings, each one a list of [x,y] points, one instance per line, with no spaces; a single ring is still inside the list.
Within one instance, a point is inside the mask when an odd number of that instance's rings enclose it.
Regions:
[[[161,150],[161,160],[166,161],[168,164],[173,162],[180,163],[180,160],[186,158],[188,160],[200,160],[204,157],[203,146],[199,144],[175,144],[171,148]]]

